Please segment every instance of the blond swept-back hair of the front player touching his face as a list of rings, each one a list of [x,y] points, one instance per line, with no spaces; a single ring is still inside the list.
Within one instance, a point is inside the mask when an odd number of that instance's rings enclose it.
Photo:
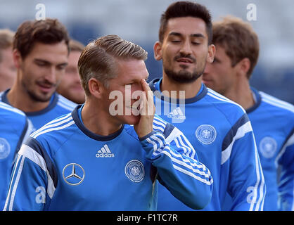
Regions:
[[[117,77],[116,59],[146,60],[147,55],[141,46],[117,35],[107,35],[91,41],[82,51],[77,64],[86,95],[90,94],[88,82],[92,77],[108,88],[108,80]]]

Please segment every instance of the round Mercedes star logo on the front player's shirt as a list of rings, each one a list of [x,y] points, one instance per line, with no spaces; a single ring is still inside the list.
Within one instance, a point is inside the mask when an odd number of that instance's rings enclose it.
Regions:
[[[77,163],[70,163],[63,168],[63,179],[67,184],[79,185],[84,181],[84,168]]]

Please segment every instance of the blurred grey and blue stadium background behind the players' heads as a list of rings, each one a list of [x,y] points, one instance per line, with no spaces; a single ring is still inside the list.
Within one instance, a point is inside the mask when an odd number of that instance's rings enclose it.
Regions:
[[[150,79],[160,77],[161,63],[153,58],[160,15],[173,0],[0,0],[0,28],[16,30],[35,18],[37,4],[46,6],[46,17],[58,18],[70,37],[84,44],[105,34],[118,34],[148,51]],[[257,6],[257,20],[250,21],[260,38],[260,59],[251,84],[268,94],[294,103],[294,1],[198,0],[218,20],[236,15],[247,20],[248,4]]]

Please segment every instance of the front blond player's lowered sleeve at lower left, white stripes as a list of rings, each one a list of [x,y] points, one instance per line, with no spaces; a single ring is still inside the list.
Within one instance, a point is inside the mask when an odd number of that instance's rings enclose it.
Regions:
[[[46,210],[56,189],[56,176],[48,161],[35,139],[23,144],[13,167],[4,211]]]

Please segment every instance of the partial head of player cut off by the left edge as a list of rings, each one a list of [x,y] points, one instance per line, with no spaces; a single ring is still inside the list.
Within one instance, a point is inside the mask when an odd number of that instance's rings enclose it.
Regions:
[[[0,30],[0,91],[11,88],[16,77],[12,56],[13,35],[11,30]]]

